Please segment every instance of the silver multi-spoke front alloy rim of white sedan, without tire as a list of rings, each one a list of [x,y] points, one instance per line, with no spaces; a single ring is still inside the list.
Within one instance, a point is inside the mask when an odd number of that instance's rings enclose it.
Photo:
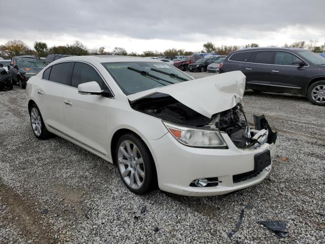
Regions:
[[[118,167],[125,183],[139,189],[145,178],[145,168],[140,150],[132,141],[122,141],[118,147]]]

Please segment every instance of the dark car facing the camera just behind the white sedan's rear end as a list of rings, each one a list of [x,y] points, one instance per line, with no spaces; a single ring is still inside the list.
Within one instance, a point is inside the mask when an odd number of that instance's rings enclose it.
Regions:
[[[45,62],[37,56],[16,56],[11,59],[8,72],[14,85],[18,83],[21,88],[25,88],[27,80],[37,75],[45,66]]]

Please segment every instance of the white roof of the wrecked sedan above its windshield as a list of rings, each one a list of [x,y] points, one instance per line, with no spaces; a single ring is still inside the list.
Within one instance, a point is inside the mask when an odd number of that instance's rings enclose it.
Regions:
[[[94,56],[69,56],[55,60],[53,63],[62,61],[96,61],[99,63],[114,63],[114,62],[161,62],[159,59],[150,57],[136,56],[118,56],[118,55],[94,55]],[[51,63],[52,64],[52,63]]]

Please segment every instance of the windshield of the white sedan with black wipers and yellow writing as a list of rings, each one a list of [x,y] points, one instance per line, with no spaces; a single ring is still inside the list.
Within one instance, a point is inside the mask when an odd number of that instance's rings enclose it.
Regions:
[[[191,80],[178,69],[161,62],[118,62],[102,65],[125,95]]]

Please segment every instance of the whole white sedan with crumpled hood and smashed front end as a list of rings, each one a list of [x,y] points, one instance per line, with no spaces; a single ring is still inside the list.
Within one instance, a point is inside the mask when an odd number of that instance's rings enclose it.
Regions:
[[[71,56],[26,86],[31,128],[63,137],[117,166],[124,185],[220,195],[261,182],[276,133],[264,116],[250,129],[240,71],[194,80],[159,60]]]

